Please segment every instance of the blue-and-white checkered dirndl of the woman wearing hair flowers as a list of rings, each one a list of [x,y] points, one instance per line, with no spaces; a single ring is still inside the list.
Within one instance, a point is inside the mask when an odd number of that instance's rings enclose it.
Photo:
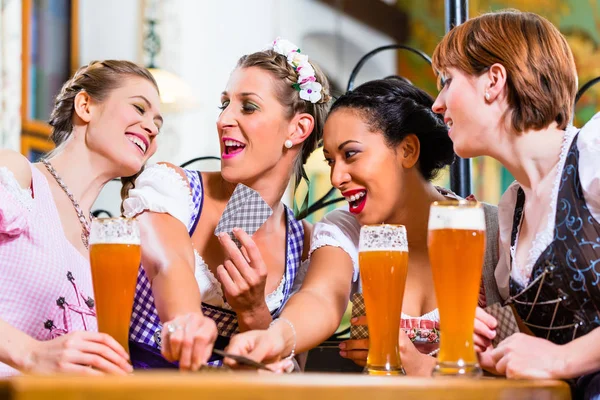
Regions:
[[[194,211],[190,224],[187,227],[190,236],[193,234],[203,205],[203,183],[202,177],[197,171],[184,170],[190,187],[192,189],[192,199],[194,202]],[[292,286],[296,279],[296,274],[302,261],[302,250],[304,244],[304,227],[301,221],[294,218],[293,212],[286,207],[287,220],[287,248],[286,248],[286,270],[285,286],[283,289],[283,302],[285,304],[292,294]],[[224,310],[209,304],[202,303],[204,315],[212,318],[217,324],[219,337],[215,347],[224,348],[229,343],[229,338],[239,331],[237,316],[230,310]],[[281,307],[272,312],[273,318],[280,313]],[[158,313],[154,305],[154,296],[150,281],[140,266],[138,281],[136,287],[136,296],[133,304],[131,316],[131,326],[129,329],[129,347],[131,360],[136,368],[173,368],[176,364],[169,364],[160,357],[160,339],[162,324],[158,318]],[[152,354],[149,354],[152,353]],[[161,360],[162,359],[162,360]],[[213,357],[209,365],[221,365],[222,360]]]

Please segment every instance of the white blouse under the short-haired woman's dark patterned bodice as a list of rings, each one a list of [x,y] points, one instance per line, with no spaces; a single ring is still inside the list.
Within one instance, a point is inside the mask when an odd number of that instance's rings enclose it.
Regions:
[[[573,126],[567,128],[561,148],[559,163],[556,168],[554,186],[548,205],[548,222],[538,231],[529,249],[527,262],[524,265],[516,264],[516,246],[519,242],[519,231],[515,246],[511,246],[511,233],[514,220],[515,205],[519,183],[513,182],[502,195],[498,204],[498,220],[500,225],[500,260],[496,268],[496,281],[500,295],[506,299],[509,296],[509,277],[520,285],[526,286],[531,277],[535,262],[544,249],[552,242],[554,237],[554,223],[556,219],[556,203],[560,180],[563,173],[569,148],[577,136],[579,150],[579,180],[588,209],[596,221],[600,221],[600,113],[579,130]],[[520,227],[519,227],[520,229]],[[511,265],[512,256],[512,265]]]

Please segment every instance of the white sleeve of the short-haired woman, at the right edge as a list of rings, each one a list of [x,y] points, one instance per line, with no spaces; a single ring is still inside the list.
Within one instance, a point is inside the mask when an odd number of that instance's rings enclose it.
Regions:
[[[600,113],[579,131],[577,148],[583,196],[590,213],[600,222]]]

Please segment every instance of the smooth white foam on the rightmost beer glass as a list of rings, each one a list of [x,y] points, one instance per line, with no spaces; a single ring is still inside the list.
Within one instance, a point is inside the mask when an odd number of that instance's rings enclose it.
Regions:
[[[482,207],[439,207],[432,206],[429,213],[429,230],[468,229],[485,230],[485,215]]]

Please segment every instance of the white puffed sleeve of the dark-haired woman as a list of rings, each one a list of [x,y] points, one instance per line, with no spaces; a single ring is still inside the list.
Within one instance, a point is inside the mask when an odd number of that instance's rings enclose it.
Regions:
[[[350,212],[338,208],[326,214],[313,228],[309,256],[320,247],[333,246],[344,250],[352,259],[354,274],[358,279],[358,239],[360,224]]]

